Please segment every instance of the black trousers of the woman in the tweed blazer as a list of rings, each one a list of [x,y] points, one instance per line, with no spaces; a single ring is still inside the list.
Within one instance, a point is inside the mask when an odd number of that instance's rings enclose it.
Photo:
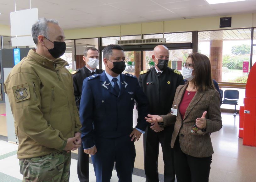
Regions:
[[[208,182],[212,156],[192,157],[181,151],[179,137],[174,145],[174,165],[177,182]]]

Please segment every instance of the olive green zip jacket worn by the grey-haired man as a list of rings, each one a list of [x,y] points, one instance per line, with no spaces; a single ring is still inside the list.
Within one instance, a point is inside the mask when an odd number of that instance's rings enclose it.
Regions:
[[[80,132],[73,79],[61,58],[51,61],[35,51],[14,66],[5,79],[19,139],[18,158],[61,151]]]

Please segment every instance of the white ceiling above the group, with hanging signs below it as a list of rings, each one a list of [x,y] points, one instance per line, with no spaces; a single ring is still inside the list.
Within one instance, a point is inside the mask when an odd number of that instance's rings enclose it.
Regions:
[[[39,17],[57,19],[63,29],[256,13],[256,0],[209,5],[205,0],[31,0]],[[30,0],[16,0],[16,10]],[[0,0],[0,25],[10,25],[14,0]]]

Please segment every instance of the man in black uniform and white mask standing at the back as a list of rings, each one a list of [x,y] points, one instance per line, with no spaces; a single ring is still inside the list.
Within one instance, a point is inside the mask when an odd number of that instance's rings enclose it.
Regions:
[[[75,93],[75,104],[79,110],[83,81],[86,77],[93,74],[101,74],[102,69],[97,69],[99,65],[99,51],[94,47],[86,47],[84,50],[83,60],[86,65],[73,71],[73,85]],[[78,149],[77,174],[81,182],[89,181],[89,155],[84,153],[83,145]]]

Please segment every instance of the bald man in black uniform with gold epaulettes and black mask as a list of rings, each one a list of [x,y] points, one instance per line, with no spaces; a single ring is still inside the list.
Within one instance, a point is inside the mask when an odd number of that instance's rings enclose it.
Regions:
[[[139,84],[149,100],[149,113],[165,115],[169,113],[176,88],[183,85],[181,72],[168,67],[169,50],[163,45],[154,48],[152,59],[155,66],[142,71]],[[164,182],[175,181],[173,153],[170,146],[174,125],[164,130],[156,123],[148,125],[144,141],[144,168],[147,182],[158,182],[158,155],[161,143],[164,159]]]

